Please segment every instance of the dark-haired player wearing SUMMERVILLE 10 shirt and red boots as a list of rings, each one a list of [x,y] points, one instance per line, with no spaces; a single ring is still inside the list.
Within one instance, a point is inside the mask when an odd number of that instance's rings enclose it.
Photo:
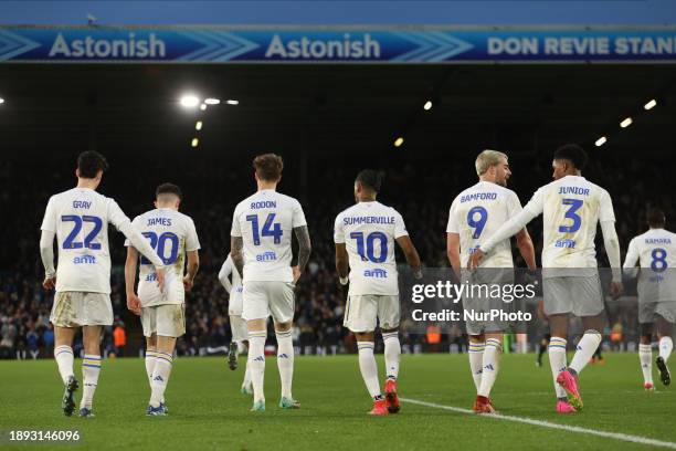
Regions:
[[[340,283],[349,283],[344,325],[357,338],[359,369],[373,399],[370,415],[399,411],[397,377],[399,343],[399,283],[394,261],[394,241],[401,247],[416,279],[422,276],[415,247],[409,238],[401,214],[376,200],[381,178],[374,170],[362,170],[355,180],[357,204],[336,218],[336,269]],[[349,274],[348,274],[349,272]],[[380,325],[384,342],[385,398],[380,391],[378,366],[373,356],[374,331]]]

